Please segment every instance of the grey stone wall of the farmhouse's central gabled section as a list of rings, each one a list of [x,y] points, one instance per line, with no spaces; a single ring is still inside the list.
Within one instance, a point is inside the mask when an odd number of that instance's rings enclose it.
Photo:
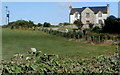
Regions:
[[[90,13],[90,17],[86,17],[86,13]],[[94,12],[90,8],[86,8],[81,13],[81,21],[83,24],[86,24],[86,21],[89,20],[90,23],[95,22],[95,15]]]

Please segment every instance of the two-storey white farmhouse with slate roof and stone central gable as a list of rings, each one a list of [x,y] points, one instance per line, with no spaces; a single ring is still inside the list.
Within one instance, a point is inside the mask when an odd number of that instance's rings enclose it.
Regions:
[[[72,8],[70,6],[69,22],[73,24],[75,20],[81,20],[83,24],[104,24],[104,20],[109,16],[109,4],[99,7]]]

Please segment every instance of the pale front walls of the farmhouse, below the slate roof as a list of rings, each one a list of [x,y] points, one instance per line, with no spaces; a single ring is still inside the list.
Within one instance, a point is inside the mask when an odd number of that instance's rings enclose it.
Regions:
[[[103,14],[102,13],[102,17],[99,17],[98,14],[100,13],[100,11],[97,14],[94,14],[94,12],[88,7],[85,8],[82,12],[81,15],[78,14],[79,18],[75,18],[75,14],[78,12],[75,12],[73,15],[70,15],[70,23],[73,24],[75,20],[77,19],[81,19],[83,24],[86,24],[86,21],[89,20],[90,23],[92,24],[99,24],[99,20],[102,20],[104,23],[104,20],[107,19],[107,17],[109,16],[110,12],[109,12],[109,4],[107,5],[107,14]],[[120,10],[119,10],[120,11]],[[86,17],[86,13],[90,13],[90,17]],[[81,18],[80,18],[81,17]]]

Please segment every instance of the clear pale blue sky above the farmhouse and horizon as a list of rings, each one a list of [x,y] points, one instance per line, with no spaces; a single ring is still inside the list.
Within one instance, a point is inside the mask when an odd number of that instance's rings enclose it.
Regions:
[[[3,2],[2,18],[5,24],[5,6],[8,6],[11,22],[32,20],[34,23],[59,24],[69,22],[69,5],[79,8],[107,4],[110,4],[110,14],[118,17],[118,2]]]

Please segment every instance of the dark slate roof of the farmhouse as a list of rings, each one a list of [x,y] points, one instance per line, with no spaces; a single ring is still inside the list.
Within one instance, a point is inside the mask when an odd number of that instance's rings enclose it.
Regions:
[[[85,8],[87,7],[83,7],[83,8],[72,8],[70,11],[70,15],[73,15],[76,11],[81,13]],[[90,8],[95,14],[97,14],[99,11],[101,11],[102,13],[106,14],[107,13],[107,6],[102,6],[102,7],[88,7]]]

